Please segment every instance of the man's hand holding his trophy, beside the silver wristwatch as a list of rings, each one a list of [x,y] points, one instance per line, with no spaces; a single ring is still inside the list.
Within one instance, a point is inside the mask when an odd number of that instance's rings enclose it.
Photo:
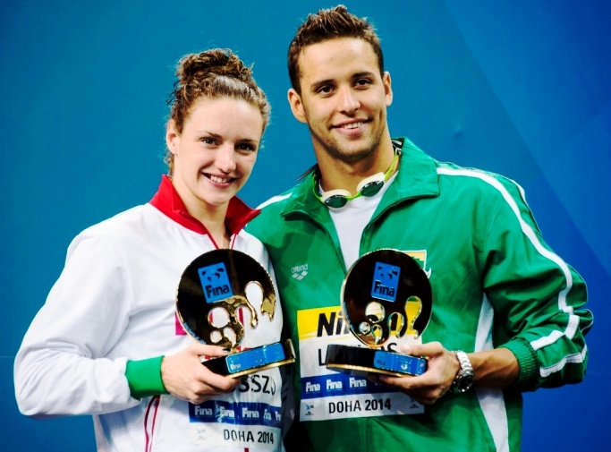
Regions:
[[[427,371],[422,375],[409,377],[390,377],[376,375],[373,380],[399,389],[423,405],[433,405],[452,388],[452,382],[459,371],[460,364],[454,352],[450,352],[438,342],[428,344],[401,345],[403,354],[425,356],[428,359]]]

